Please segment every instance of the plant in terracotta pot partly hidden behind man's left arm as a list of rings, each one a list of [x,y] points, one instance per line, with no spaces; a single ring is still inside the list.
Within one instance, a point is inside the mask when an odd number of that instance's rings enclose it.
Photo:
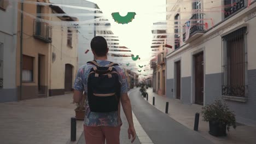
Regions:
[[[83,121],[85,117],[85,98],[86,95],[83,94],[82,100],[77,103],[77,108],[75,108],[75,118],[80,121]]]

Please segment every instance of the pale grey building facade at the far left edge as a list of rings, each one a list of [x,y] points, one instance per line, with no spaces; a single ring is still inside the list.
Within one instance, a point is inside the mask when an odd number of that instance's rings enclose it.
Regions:
[[[0,1],[0,103],[18,100],[15,80],[17,4],[15,1]]]

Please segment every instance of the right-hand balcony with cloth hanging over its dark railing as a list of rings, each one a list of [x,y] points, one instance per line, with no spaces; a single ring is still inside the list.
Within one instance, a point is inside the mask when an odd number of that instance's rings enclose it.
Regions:
[[[189,25],[191,25],[190,26],[190,29],[189,29],[189,38],[188,39],[190,39],[191,37],[193,37],[193,35],[195,35],[196,33],[199,33],[196,37],[194,37],[194,39],[195,38],[197,38],[197,37],[200,37],[203,33],[204,33],[204,31],[205,31],[205,26],[204,26],[204,23],[203,23],[203,21],[201,20],[202,19],[202,16],[199,16],[199,15],[202,15],[202,14],[194,14],[191,18],[190,18],[190,20],[191,21],[188,21],[190,24]],[[187,22],[186,22],[187,23]],[[184,25],[183,26],[184,27],[184,29],[187,29],[187,26],[186,25]],[[187,37],[187,33],[186,33],[186,31],[184,30],[184,33],[183,33],[183,41],[190,41],[190,40],[186,40],[186,37]]]

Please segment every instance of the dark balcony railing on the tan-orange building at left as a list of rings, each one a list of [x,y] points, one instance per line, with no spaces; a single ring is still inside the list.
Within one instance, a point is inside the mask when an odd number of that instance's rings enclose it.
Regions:
[[[51,35],[52,35],[52,31],[51,31],[51,27],[47,25],[47,23],[45,22],[39,22],[34,20],[33,23],[33,27],[34,27],[34,32],[33,32],[33,36],[36,39],[42,40],[45,43],[51,43]]]

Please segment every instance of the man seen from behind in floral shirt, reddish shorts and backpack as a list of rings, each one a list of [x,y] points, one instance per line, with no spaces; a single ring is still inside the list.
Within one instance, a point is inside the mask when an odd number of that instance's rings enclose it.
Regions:
[[[136,137],[132,121],[129,86],[123,68],[107,60],[108,46],[103,37],[91,40],[95,61],[79,68],[74,82],[74,102],[86,94],[84,136],[86,144],[119,144],[120,103],[129,123],[128,136]]]

